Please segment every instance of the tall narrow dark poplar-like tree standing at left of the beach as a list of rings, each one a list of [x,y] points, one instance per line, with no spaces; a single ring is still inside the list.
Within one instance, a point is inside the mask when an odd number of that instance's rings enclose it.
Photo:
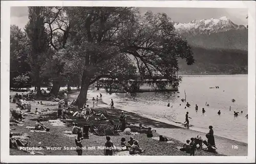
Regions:
[[[25,27],[30,45],[28,53],[28,62],[31,67],[30,75],[37,88],[37,97],[41,96],[43,68],[50,53],[49,39],[44,25],[44,12],[45,7],[29,7],[29,22]]]

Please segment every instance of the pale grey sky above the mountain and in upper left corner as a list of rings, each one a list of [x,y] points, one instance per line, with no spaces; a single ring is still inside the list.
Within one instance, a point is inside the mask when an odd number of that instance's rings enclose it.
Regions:
[[[166,13],[175,22],[187,23],[192,20],[220,18],[227,16],[240,25],[247,24],[247,9],[234,8],[139,8],[141,13],[151,10],[153,13]],[[28,22],[28,7],[11,7],[11,24],[24,28]]]

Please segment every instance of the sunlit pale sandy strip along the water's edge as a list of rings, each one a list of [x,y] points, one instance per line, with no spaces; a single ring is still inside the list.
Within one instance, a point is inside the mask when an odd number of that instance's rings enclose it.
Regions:
[[[97,93],[102,93],[102,92],[93,92],[93,91],[89,91],[88,92],[88,99],[89,99],[89,104],[91,104],[91,98],[92,97],[96,97]],[[103,101],[103,100],[102,100]],[[109,105],[107,104],[108,102],[103,101],[107,106],[105,107],[109,107]],[[125,111],[123,109],[120,108],[116,108],[115,110],[118,110],[119,112],[121,111]],[[129,113],[129,115],[135,115],[137,117],[141,117],[143,119],[147,119],[148,121],[150,121],[150,123],[146,124],[147,126],[152,126],[153,129],[157,129],[157,133],[161,134],[161,135],[165,135],[169,138],[173,138],[175,140],[178,140],[182,143],[185,142],[185,140],[190,139],[191,137],[195,137],[197,135],[202,136],[203,139],[205,138],[205,134],[207,132],[200,132],[197,130],[193,130],[193,129],[187,129],[181,126],[177,126],[175,125],[175,123],[170,123],[170,121],[163,121],[160,119],[156,119],[156,118],[152,118],[150,116],[147,115],[143,115],[143,114],[137,114],[134,112],[130,112],[130,111],[125,111],[125,113]],[[129,117],[128,115],[128,117]],[[134,117],[134,116],[132,116]],[[155,125],[156,122],[158,122],[158,125]],[[159,127],[159,124],[161,125],[161,127]],[[236,141],[233,139],[228,139],[225,138],[223,136],[218,136],[215,135],[215,141],[217,143],[217,148],[218,148],[218,152],[221,154],[225,154],[225,155],[240,155],[240,156],[247,156],[247,151],[248,151],[248,144],[241,142],[241,141]],[[232,146],[239,146],[239,149],[232,149]],[[241,151],[242,150],[242,151]]]

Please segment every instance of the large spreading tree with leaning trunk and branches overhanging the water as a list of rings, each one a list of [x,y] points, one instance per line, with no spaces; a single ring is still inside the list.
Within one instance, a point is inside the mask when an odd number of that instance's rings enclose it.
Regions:
[[[187,42],[175,33],[173,21],[166,14],[147,12],[141,16],[135,8],[72,7],[67,15],[74,23],[70,38],[72,54],[83,63],[78,106],[86,103],[90,85],[102,77],[135,71],[152,76],[161,73],[173,81],[178,59],[193,64]]]

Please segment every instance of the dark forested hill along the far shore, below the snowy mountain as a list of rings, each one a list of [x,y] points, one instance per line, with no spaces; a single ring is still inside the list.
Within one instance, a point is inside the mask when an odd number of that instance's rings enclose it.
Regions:
[[[179,61],[180,73],[247,74],[248,52],[246,50],[208,49],[192,46],[195,64]]]

